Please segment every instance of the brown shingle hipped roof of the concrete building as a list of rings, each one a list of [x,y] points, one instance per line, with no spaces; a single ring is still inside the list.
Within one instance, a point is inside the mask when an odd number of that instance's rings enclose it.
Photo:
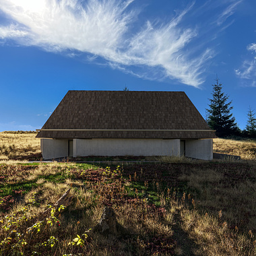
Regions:
[[[36,137],[216,137],[185,92],[69,91],[42,129],[72,131],[40,131]],[[90,131],[74,131],[75,129]],[[98,131],[99,129],[103,131]],[[117,131],[120,129],[126,131]],[[158,131],[137,131],[145,129]]]

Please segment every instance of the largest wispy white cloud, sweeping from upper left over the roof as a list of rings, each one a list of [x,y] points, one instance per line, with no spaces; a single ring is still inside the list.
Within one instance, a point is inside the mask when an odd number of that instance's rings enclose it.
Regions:
[[[199,87],[212,49],[187,47],[199,31],[182,21],[193,7],[180,11],[166,24],[147,21],[134,26],[139,10],[134,0],[0,0],[0,9],[13,24],[0,28],[0,38],[12,38],[69,57],[89,54],[88,60],[104,59],[113,68],[146,79],[177,79]],[[219,16],[222,24],[241,1]],[[197,53],[195,53],[197,51]]]

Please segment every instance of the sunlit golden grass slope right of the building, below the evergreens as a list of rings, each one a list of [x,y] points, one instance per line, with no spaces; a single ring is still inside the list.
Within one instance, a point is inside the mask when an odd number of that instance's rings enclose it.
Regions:
[[[256,141],[214,139],[214,152],[241,156],[242,160],[256,160]]]

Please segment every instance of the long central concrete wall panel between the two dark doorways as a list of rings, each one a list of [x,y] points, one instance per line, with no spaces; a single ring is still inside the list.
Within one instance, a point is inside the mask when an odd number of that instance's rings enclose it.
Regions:
[[[73,139],[73,156],[179,156],[179,139]]]

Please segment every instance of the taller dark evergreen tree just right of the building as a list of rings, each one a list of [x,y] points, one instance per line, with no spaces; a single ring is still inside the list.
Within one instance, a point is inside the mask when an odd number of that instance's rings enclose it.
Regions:
[[[212,99],[210,100],[210,108],[207,109],[207,123],[216,130],[216,135],[226,137],[228,135],[238,135],[239,128],[234,117],[232,117],[232,106],[227,102],[229,96],[222,92],[222,84],[219,84],[219,79],[216,77],[216,84],[213,84]]]

